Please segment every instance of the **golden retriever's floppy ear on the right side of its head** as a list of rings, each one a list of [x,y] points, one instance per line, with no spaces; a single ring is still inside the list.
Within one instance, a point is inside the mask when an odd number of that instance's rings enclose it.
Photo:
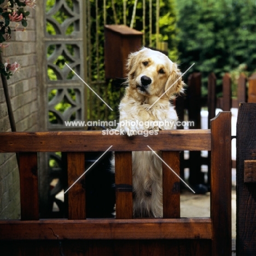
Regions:
[[[176,63],[172,63],[172,70],[165,84],[165,93],[168,97],[174,94],[181,94],[184,88],[182,73]]]

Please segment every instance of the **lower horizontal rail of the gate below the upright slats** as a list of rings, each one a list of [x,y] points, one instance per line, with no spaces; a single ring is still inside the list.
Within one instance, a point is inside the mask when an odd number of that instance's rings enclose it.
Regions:
[[[0,221],[0,240],[211,239],[210,218]],[[225,226],[224,226],[225,228]],[[228,255],[228,254],[226,254]]]

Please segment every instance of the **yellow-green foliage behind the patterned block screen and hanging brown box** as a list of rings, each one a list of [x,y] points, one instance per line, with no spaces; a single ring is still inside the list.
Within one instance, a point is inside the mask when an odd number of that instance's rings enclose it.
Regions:
[[[118,24],[124,24],[123,18],[123,0],[115,0],[115,13],[117,14]],[[66,3],[69,8],[73,8],[73,2],[71,0],[66,0]],[[152,47],[156,48],[156,1],[152,1]],[[46,12],[54,7],[55,0],[46,1]],[[114,20],[114,11],[112,8],[112,1],[106,1],[107,7],[107,24],[115,24]],[[127,26],[130,26],[132,11],[133,11],[134,0],[126,1],[126,21]],[[88,60],[88,77],[89,85],[98,95],[100,95],[108,104],[114,109],[110,111],[108,107],[93,93],[88,89],[88,119],[89,120],[114,120],[118,119],[118,105],[121,97],[124,94],[124,80],[108,80],[105,81],[104,73],[104,17],[103,17],[103,4],[101,1],[98,1],[98,9],[96,10],[96,1],[90,0],[90,31],[88,31],[88,36],[90,36],[90,46],[89,46],[89,57]],[[68,15],[65,11],[57,11],[53,18],[61,25]],[[144,31],[146,35],[146,45],[149,46],[149,1],[146,1],[146,20],[147,25],[146,30]],[[98,30],[96,31],[96,20],[98,22]],[[168,43],[168,53],[169,57],[176,61],[178,57],[177,44],[174,38],[176,37],[176,10],[174,9],[173,0],[160,0],[160,19],[159,19],[159,41]],[[143,5],[142,1],[138,1],[135,22],[133,28],[138,31],[143,30]],[[68,27],[66,34],[71,34],[73,32],[73,25]],[[46,25],[46,31],[55,35],[56,30],[54,24],[49,22]],[[53,45],[50,45],[48,48],[48,56],[50,56],[55,50]],[[72,46],[68,49],[72,54]],[[55,61],[55,65],[62,68],[64,65],[64,57],[59,57]],[[53,69],[48,68],[48,77],[50,80],[57,80],[57,76]],[[102,83],[103,82],[103,83]],[[49,95],[51,97],[51,95]],[[66,106],[67,107],[67,106]],[[53,117],[50,117],[53,120]]]

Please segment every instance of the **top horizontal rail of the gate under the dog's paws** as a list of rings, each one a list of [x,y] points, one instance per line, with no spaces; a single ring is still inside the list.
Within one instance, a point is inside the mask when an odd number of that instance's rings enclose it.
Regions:
[[[147,145],[154,145],[154,150],[211,150],[211,132],[165,130],[148,137],[102,135],[101,131],[0,132],[0,153],[104,152],[112,145],[110,151],[149,151]]]

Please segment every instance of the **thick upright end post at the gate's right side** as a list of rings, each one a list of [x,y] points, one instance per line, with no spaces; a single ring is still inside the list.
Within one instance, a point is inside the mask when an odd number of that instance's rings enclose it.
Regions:
[[[231,112],[211,121],[212,255],[231,255]]]

